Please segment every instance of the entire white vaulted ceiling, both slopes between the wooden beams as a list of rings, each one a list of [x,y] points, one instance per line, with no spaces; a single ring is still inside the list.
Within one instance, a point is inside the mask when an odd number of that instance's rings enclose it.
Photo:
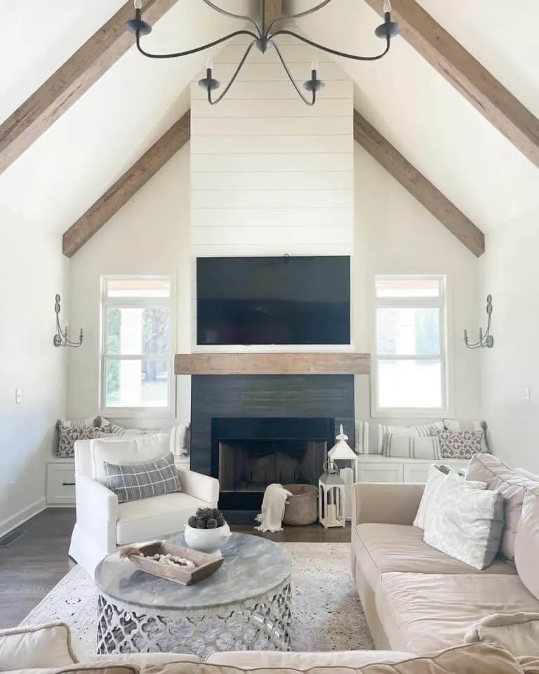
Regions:
[[[291,0],[305,9],[315,0]],[[122,0],[0,0],[0,117],[6,119],[76,51]],[[243,13],[249,0],[221,2]],[[420,0],[535,115],[539,3]],[[298,21],[328,46],[375,53],[380,18],[363,0],[332,0]],[[154,51],[210,41],[238,23],[202,0],[178,0],[154,27]],[[189,81],[206,55],[154,61],[134,48],[0,176],[0,206],[63,232],[189,107]],[[356,85],[357,110],[488,233],[539,203],[539,169],[409,46],[375,63],[337,59]],[[320,72],[324,78],[324,72]],[[324,95],[322,92],[321,95]]]

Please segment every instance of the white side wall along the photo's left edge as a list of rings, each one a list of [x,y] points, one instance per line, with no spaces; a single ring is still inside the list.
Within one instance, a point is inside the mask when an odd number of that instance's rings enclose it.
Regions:
[[[65,289],[66,265],[59,234],[6,209],[0,220],[2,536],[45,505],[45,463],[65,411],[65,350],[53,346],[53,309],[55,293]]]

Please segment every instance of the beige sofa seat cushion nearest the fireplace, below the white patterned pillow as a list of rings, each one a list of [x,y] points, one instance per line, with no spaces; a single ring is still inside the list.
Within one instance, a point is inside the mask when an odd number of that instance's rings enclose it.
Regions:
[[[371,586],[387,571],[418,574],[509,574],[515,569],[507,562],[494,560],[490,567],[477,571],[464,562],[431,548],[422,540],[423,531],[406,524],[358,524],[352,531],[352,554]]]

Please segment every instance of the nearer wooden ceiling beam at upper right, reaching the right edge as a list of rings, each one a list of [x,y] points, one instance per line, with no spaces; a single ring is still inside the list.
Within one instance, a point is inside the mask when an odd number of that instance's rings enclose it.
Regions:
[[[365,0],[382,15],[382,0]],[[402,37],[476,110],[539,167],[539,119],[439,25],[416,0],[392,0]]]

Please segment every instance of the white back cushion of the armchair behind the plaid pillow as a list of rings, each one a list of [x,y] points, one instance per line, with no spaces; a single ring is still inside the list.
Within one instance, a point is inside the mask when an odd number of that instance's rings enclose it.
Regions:
[[[106,483],[104,463],[143,463],[168,454],[170,440],[167,433],[152,435],[112,436],[90,442],[92,477]]]

